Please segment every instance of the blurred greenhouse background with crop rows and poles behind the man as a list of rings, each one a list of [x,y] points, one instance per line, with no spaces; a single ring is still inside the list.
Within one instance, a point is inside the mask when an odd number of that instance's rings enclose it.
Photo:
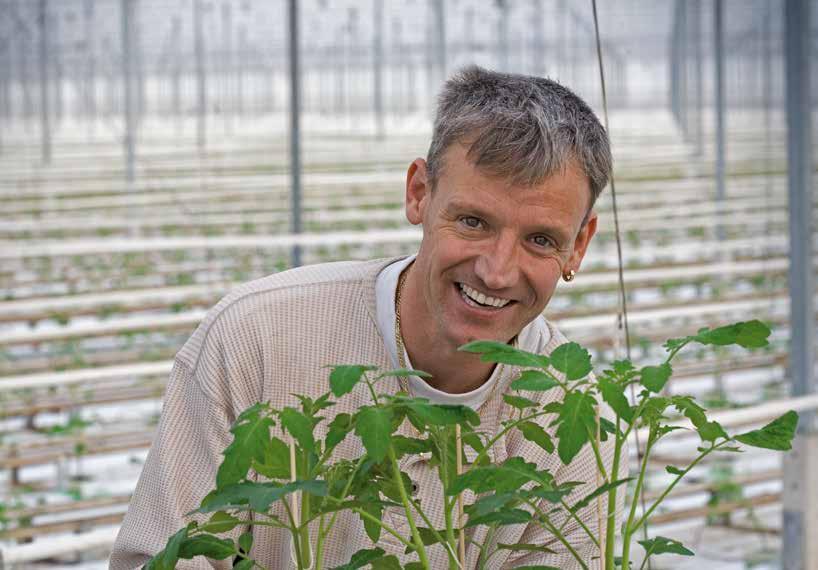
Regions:
[[[607,189],[546,316],[599,363],[763,319],[768,348],[691,350],[667,391],[731,431],[803,418],[786,460],[691,473],[650,534],[697,557],[654,568],[818,568],[816,18],[810,0],[599,5],[622,258]],[[6,567],[106,567],[173,355],[231,287],[416,250],[405,171],[469,63],[603,116],[590,0],[0,0]],[[661,446],[648,501],[697,441]]]

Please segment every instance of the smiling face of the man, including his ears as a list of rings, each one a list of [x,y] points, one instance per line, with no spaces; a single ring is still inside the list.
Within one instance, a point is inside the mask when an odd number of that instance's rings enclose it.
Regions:
[[[407,173],[406,215],[423,224],[412,268],[424,333],[449,348],[508,342],[545,309],[563,273],[579,270],[596,231],[586,176],[572,162],[534,187],[486,176],[464,145],[446,152],[432,192],[426,163]]]

